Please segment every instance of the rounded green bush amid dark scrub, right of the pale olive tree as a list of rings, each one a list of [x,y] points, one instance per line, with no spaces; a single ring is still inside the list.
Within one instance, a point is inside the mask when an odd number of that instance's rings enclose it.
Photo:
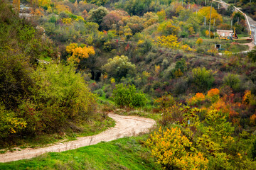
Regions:
[[[192,70],[192,81],[197,91],[206,91],[212,86],[214,77],[210,70],[198,67]]]

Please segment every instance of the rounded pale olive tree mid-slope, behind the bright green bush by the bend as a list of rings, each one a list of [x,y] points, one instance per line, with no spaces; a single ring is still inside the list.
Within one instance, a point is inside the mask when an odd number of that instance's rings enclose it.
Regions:
[[[127,56],[121,55],[109,59],[107,64],[102,66],[102,70],[107,72],[109,77],[114,77],[117,81],[127,75],[132,75],[136,72],[135,64],[129,62]]]

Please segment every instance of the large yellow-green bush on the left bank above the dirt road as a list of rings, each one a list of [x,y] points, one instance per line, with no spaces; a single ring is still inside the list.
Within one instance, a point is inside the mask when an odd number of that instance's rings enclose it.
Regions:
[[[68,122],[86,120],[92,113],[95,95],[72,65],[43,65],[31,78],[31,100],[18,106],[18,116],[28,123],[26,132],[55,131]]]

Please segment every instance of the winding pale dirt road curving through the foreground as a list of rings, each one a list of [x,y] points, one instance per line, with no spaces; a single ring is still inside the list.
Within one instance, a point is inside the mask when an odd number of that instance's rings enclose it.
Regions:
[[[20,159],[31,159],[38,157],[47,152],[63,152],[70,149],[77,149],[89,145],[95,145],[99,142],[117,140],[121,137],[131,137],[139,135],[140,133],[149,132],[156,124],[155,120],[149,118],[141,118],[137,116],[124,116],[109,114],[110,118],[116,121],[116,125],[98,135],[90,137],[78,137],[78,140],[58,143],[50,147],[43,147],[38,149],[22,149],[21,151],[7,152],[0,154],[0,162],[12,162]]]

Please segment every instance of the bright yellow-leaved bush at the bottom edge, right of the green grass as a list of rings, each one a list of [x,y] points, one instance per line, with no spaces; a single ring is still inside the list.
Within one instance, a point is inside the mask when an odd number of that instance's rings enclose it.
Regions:
[[[163,164],[167,169],[207,169],[208,159],[201,152],[186,150],[192,147],[192,142],[178,128],[166,131],[159,128],[145,144],[151,149],[157,163]]]

